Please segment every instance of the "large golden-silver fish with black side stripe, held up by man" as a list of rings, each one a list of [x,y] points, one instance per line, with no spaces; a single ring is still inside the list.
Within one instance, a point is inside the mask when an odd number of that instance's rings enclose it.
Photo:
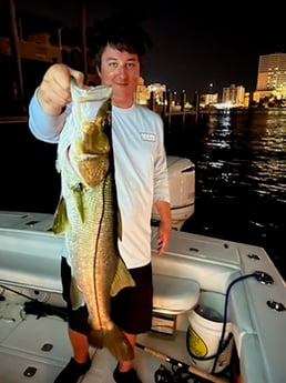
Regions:
[[[86,303],[90,344],[108,347],[118,360],[133,350],[110,318],[110,298],[134,286],[118,249],[121,236],[111,144],[111,88],[78,88],[71,82],[73,112],[58,145],[61,199],[53,232],[65,233],[71,261],[71,301]]]

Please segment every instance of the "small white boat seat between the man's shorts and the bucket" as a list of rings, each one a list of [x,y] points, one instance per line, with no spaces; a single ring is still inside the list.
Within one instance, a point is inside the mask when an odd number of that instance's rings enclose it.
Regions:
[[[198,302],[200,285],[184,278],[154,274],[153,311],[177,315],[192,310]]]

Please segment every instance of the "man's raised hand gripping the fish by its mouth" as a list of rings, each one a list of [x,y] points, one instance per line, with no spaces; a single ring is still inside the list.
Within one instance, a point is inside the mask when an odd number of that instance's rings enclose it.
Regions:
[[[55,63],[44,73],[38,90],[38,100],[47,114],[59,115],[71,102],[71,77],[79,87],[83,87],[84,74],[65,64]]]

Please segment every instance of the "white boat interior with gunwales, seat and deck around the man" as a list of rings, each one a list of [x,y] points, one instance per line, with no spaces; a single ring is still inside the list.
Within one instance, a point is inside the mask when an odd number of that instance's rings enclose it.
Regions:
[[[61,318],[23,315],[29,298],[64,305],[60,281],[63,238],[52,234],[52,220],[51,214],[0,212],[0,383],[52,383],[72,354],[67,323]],[[284,383],[286,285],[265,250],[174,230],[168,251],[159,256],[155,234],[154,228],[154,312],[175,315],[176,330],[173,336],[150,332],[141,335],[139,343],[196,369],[186,349],[190,311],[201,292],[225,294],[233,283],[228,321],[239,357],[241,382]],[[269,275],[273,283],[246,278],[254,272],[259,272],[261,279]],[[106,350],[91,349],[90,354],[92,367],[81,382],[112,383],[116,364],[113,356]],[[143,383],[155,382],[154,373],[161,364],[171,371],[167,361],[136,349],[135,365]]]

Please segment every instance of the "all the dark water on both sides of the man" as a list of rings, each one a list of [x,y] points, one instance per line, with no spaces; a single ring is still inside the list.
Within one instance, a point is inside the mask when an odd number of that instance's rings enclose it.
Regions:
[[[0,210],[54,212],[55,145],[27,123],[0,124]],[[196,165],[195,213],[184,230],[265,248],[286,279],[286,110],[172,117],[167,154]]]

